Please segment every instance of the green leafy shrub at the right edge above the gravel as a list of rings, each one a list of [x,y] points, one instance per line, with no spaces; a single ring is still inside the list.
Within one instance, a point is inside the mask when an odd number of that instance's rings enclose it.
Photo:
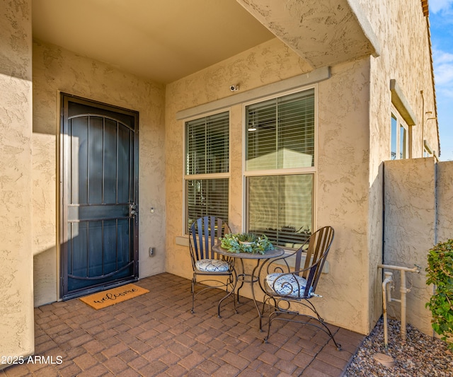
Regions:
[[[435,285],[435,293],[426,303],[432,313],[432,328],[453,350],[453,240],[429,250],[426,272],[426,284]]]

